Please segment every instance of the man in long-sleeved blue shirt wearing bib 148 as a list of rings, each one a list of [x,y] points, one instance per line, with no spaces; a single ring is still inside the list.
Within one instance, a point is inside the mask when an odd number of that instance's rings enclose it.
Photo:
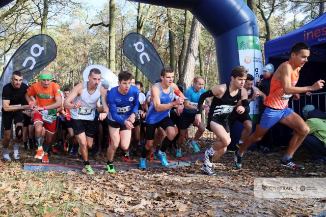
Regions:
[[[118,75],[119,86],[113,87],[107,94],[110,113],[107,115],[108,131],[111,145],[107,148],[107,172],[116,173],[113,157],[119,146],[123,156],[129,159],[128,148],[131,139],[131,130],[138,111],[139,90],[131,85],[131,73],[122,71]],[[127,154],[127,155],[126,155]]]

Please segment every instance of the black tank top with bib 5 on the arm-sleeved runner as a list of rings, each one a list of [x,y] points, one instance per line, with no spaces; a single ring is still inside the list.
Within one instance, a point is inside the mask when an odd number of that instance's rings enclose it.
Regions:
[[[232,97],[230,95],[230,84],[226,84],[226,91],[220,98],[213,97],[210,105],[208,116],[215,117],[218,119],[226,119],[229,114],[233,111],[236,104],[241,99],[241,89],[238,90],[237,94]]]

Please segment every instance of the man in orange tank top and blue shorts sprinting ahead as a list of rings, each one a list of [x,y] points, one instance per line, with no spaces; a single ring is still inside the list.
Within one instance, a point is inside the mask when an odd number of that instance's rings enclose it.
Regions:
[[[288,107],[289,98],[299,99],[302,92],[315,91],[323,87],[323,80],[316,81],[312,86],[295,87],[299,79],[299,71],[307,63],[310,54],[309,46],[306,43],[298,42],[291,47],[290,59],[281,64],[273,75],[270,82],[270,92],[264,105],[266,109],[262,114],[256,131],[246,141],[241,148],[234,154],[234,164],[240,169],[242,167],[242,155],[244,150],[252,143],[260,141],[265,133],[277,122],[283,123],[294,130],[294,134],[281,159],[281,165],[295,170],[302,170],[305,167],[292,160],[293,154],[300,146],[302,141],[309,133],[307,123]]]

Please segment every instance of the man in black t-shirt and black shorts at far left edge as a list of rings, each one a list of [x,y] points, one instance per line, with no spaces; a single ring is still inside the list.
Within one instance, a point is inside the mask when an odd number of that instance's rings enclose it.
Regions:
[[[29,105],[22,106],[24,96],[28,86],[22,83],[22,73],[15,71],[10,78],[11,82],[6,84],[2,90],[2,121],[5,137],[2,140],[4,146],[4,160],[10,162],[8,146],[12,135],[12,120],[15,124],[15,145],[14,145],[14,160],[20,159],[19,144],[23,136],[23,109],[29,109]]]

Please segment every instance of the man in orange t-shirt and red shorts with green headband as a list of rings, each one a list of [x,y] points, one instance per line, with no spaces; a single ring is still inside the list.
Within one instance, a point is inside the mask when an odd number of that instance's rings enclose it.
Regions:
[[[25,95],[31,110],[34,110],[35,139],[38,147],[34,158],[48,163],[49,146],[52,144],[53,134],[56,132],[57,111],[62,109],[61,91],[58,84],[52,82],[52,73],[43,70],[40,82],[32,84]],[[36,103],[31,96],[36,96]],[[45,144],[42,146],[42,128],[45,128]],[[44,148],[44,149],[43,149]]]

